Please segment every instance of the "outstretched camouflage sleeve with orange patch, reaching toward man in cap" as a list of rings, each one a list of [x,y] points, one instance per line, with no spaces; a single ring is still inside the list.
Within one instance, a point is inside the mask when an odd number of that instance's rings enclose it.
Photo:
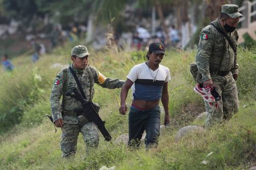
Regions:
[[[121,88],[125,81],[119,79],[106,78],[97,69],[94,68],[94,81],[104,88],[115,89]]]

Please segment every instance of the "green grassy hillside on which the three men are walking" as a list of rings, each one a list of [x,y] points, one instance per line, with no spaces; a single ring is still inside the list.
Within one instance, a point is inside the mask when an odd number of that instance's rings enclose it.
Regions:
[[[170,69],[169,112],[171,127],[163,131],[159,147],[148,152],[131,151],[115,145],[116,137],[128,132],[128,117],[118,113],[120,89],[103,89],[95,85],[94,102],[101,105],[100,115],[113,136],[106,142],[100,135],[98,150],[86,155],[79,135],[75,159],[61,158],[61,131],[54,133],[45,114],[50,114],[49,96],[54,78],[70,62],[71,45],[42,56],[36,64],[29,58],[14,61],[15,71],[0,75],[0,168],[1,169],[99,169],[106,165],[116,169],[243,169],[256,163],[256,48],[239,49],[240,74],[237,81],[240,111],[226,124],[216,125],[203,133],[193,133],[175,141],[179,128],[203,125],[195,122],[203,112],[202,99],[193,92],[195,85],[188,64],[195,51],[171,51],[162,64]],[[125,79],[133,65],[144,61],[145,52],[92,52],[90,64],[106,77]],[[4,82],[4,83],[2,83]],[[127,104],[131,104],[131,92]],[[161,122],[163,123],[163,113]],[[207,156],[209,153],[211,155]],[[202,164],[202,161],[207,164]]]

